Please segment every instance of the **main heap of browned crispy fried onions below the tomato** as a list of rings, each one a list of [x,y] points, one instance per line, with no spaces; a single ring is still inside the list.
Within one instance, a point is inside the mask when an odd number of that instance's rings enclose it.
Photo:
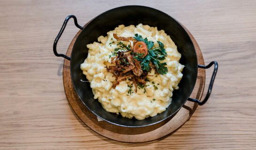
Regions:
[[[137,84],[145,85],[147,71],[143,71],[140,66],[140,61],[134,58],[134,54],[117,52],[117,56],[111,58],[111,64],[115,66],[106,66],[107,71],[115,75],[116,80],[113,82],[113,88],[121,81],[127,78],[135,85],[137,92]]]

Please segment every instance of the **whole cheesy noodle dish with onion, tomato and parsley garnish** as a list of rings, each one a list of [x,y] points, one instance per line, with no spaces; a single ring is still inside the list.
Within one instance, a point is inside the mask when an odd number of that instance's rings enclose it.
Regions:
[[[171,104],[184,65],[164,30],[142,24],[119,25],[87,48],[88,56],[80,68],[94,99],[98,98],[106,111],[143,120]]]

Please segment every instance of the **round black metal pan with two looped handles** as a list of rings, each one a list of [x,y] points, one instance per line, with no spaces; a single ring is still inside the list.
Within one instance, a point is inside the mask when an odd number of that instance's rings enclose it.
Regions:
[[[58,54],[56,51],[58,40],[70,18],[73,18],[75,25],[82,30],[73,46],[71,58],[64,54]],[[157,114],[154,117],[146,118],[145,120],[136,120],[134,118],[128,119],[121,115],[105,111],[101,106],[101,103],[97,99],[93,99],[93,92],[90,87],[90,83],[81,82],[88,80],[85,75],[82,74],[80,69],[80,64],[83,63],[87,57],[87,44],[97,41],[97,38],[101,35],[107,36],[108,31],[114,30],[120,24],[129,26],[131,24],[137,25],[139,23],[147,24],[151,27],[157,27],[158,30],[164,30],[167,35],[170,35],[171,39],[178,47],[178,52],[181,53],[180,63],[185,65],[182,71],[183,77],[178,84],[179,89],[174,90],[173,92],[171,105],[163,113]],[[54,41],[53,49],[56,56],[61,56],[70,60],[72,82],[75,90],[77,91],[78,97],[84,105],[101,119],[124,127],[145,127],[163,121],[176,113],[187,100],[203,105],[208,100],[211,93],[218,67],[216,61],[212,61],[207,66],[198,65],[193,42],[186,33],[186,30],[184,30],[184,28],[171,16],[154,8],[144,6],[124,6],[111,9],[95,17],[85,26],[85,28],[78,25],[77,18],[74,15],[69,15],[64,21],[62,29]],[[200,102],[197,99],[189,98],[194,89],[198,67],[209,68],[213,64],[215,65],[215,69],[204,100]]]

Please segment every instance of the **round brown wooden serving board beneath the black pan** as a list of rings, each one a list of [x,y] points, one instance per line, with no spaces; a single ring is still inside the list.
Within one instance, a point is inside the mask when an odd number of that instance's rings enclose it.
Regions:
[[[185,28],[186,29],[186,28]],[[198,64],[204,65],[204,60],[202,57],[202,52],[196,43],[194,37],[186,29],[190,38],[194,43],[194,47],[197,53]],[[70,56],[73,45],[79,35],[81,30],[78,31],[77,35],[73,38],[70,43],[69,49],[66,53],[67,56]],[[194,90],[190,98],[201,99],[205,83],[205,69],[198,68],[197,81],[195,83]],[[64,89],[70,102],[70,105],[78,117],[93,131],[97,132],[100,135],[108,137],[110,139],[128,142],[128,143],[141,143],[156,140],[165,135],[169,135],[175,132],[180,128],[194,113],[197,108],[197,104],[194,102],[187,101],[184,106],[172,117],[167,120],[164,120],[160,123],[157,123],[152,126],[142,127],[142,128],[127,128],[116,126],[107,121],[97,119],[97,116],[94,115],[87,107],[82,103],[78,98],[78,95],[73,87],[71,76],[70,76],[70,61],[64,60],[63,64],[63,84]]]

